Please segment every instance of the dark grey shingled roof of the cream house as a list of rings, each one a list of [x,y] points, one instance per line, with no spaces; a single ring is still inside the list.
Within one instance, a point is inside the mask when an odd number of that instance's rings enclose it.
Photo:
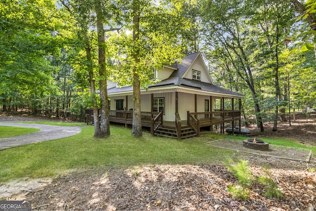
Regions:
[[[183,87],[190,87],[190,88],[196,88],[203,91],[209,91],[214,93],[223,93],[223,94],[230,94],[235,96],[244,96],[242,94],[239,94],[237,92],[230,91],[228,89],[208,84],[205,82],[201,82],[198,80],[193,79],[185,79],[182,78],[183,75],[187,72],[188,68],[192,65],[193,61],[195,61],[196,57],[199,55],[199,52],[191,53],[187,55],[181,64],[177,63],[177,70],[173,71],[171,76],[168,79],[165,79],[157,84],[149,85],[148,89],[159,87],[159,86],[172,86],[172,85],[178,85]],[[115,93],[115,92],[121,92],[121,91],[131,91],[133,90],[132,86],[122,86],[122,87],[113,87],[108,89],[108,93]]]

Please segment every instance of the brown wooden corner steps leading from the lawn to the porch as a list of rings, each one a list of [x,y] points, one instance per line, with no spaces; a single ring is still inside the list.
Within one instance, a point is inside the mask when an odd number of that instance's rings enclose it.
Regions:
[[[154,133],[157,136],[175,138],[175,139],[184,139],[197,136],[197,132],[192,127],[182,127],[180,138],[177,136],[177,130],[175,127],[158,127]]]

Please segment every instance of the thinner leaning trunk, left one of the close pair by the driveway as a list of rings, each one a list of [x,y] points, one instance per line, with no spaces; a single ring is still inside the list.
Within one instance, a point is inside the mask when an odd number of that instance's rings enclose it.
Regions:
[[[96,98],[96,92],[95,92],[95,81],[94,81],[94,74],[93,74],[93,68],[92,68],[92,59],[91,59],[91,46],[89,43],[89,40],[87,39],[86,47],[86,58],[87,58],[87,68],[89,71],[89,82],[90,82],[90,91],[92,95],[92,108],[93,108],[93,121],[94,121],[94,136],[98,137],[100,133],[100,122],[99,122],[99,109],[98,109],[98,103]]]

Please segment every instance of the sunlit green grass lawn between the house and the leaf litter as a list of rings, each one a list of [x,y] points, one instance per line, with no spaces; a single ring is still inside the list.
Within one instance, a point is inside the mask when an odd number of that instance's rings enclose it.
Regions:
[[[238,155],[207,144],[230,137],[221,134],[203,133],[201,137],[178,141],[151,136],[149,132],[144,132],[143,137],[134,137],[130,128],[118,126],[111,126],[109,138],[94,139],[93,132],[93,126],[88,126],[71,137],[1,150],[0,183],[28,176],[56,176],[74,169],[155,164],[221,165],[230,158],[236,160]],[[316,147],[313,150],[315,152]]]

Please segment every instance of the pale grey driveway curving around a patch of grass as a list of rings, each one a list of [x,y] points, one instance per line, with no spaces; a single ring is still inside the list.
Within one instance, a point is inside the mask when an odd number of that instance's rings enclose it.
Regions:
[[[0,150],[10,147],[32,144],[42,141],[50,141],[59,138],[65,138],[81,132],[80,127],[60,127],[40,124],[20,124],[20,123],[4,123],[0,122],[0,126],[11,127],[32,127],[40,129],[39,132],[31,134],[0,138]]]

